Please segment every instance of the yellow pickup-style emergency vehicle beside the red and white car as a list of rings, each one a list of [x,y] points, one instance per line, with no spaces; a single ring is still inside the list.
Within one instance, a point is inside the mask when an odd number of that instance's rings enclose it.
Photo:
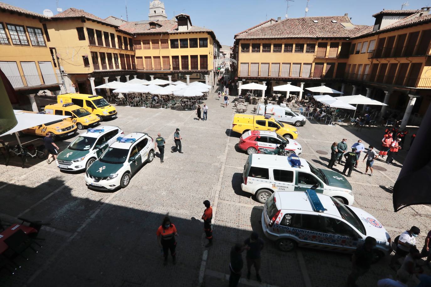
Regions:
[[[285,138],[296,139],[298,137],[298,130],[296,127],[287,123],[280,123],[269,115],[253,116],[252,114],[235,114],[232,130],[240,134],[248,132],[249,130],[270,130]]]

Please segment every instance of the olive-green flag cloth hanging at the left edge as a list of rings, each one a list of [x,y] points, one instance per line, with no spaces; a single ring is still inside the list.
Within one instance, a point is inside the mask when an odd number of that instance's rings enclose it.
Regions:
[[[0,70],[0,135],[18,123],[11,102],[18,103],[15,90]]]

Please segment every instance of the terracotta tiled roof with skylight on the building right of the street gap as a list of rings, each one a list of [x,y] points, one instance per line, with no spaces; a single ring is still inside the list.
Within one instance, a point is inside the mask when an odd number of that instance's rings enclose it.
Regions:
[[[337,21],[336,23],[331,22]],[[317,21],[317,23],[313,22]],[[278,21],[269,26],[245,32],[236,39],[257,39],[257,38],[342,38],[351,37],[368,28],[367,25],[355,25],[354,28],[346,29],[340,23],[350,23],[347,16],[321,16],[292,18]]]

